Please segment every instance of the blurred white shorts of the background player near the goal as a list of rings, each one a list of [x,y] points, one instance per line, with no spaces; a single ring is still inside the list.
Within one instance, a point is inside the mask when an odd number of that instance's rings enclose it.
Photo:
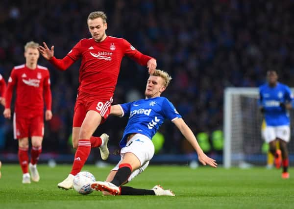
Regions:
[[[267,126],[263,132],[266,142],[273,141],[276,138],[282,139],[286,142],[290,141],[290,126]]]

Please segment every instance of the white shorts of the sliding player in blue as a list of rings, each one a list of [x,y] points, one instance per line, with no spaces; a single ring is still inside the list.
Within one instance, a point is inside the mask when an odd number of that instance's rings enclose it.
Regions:
[[[141,166],[134,170],[129,176],[128,182],[130,182],[133,178],[138,176],[147,168],[149,161],[154,155],[154,145],[151,139],[149,139],[147,136],[142,134],[134,135],[127,142],[126,146],[121,149],[121,160],[111,171],[119,169],[119,166],[123,160],[123,156],[127,152],[133,153],[141,163]]]

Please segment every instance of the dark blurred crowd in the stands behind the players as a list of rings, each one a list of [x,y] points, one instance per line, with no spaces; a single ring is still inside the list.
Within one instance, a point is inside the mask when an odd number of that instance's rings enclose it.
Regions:
[[[54,45],[55,56],[63,58],[90,37],[86,20],[99,10],[107,15],[107,35],[125,38],[172,75],[163,96],[194,133],[222,129],[225,87],[257,87],[269,69],[293,86],[294,0],[1,0],[0,73],[7,81],[13,66],[25,62],[24,45],[31,40]],[[43,150],[70,153],[79,63],[66,71],[42,57],[39,64],[50,70],[53,97]],[[147,77],[146,67],[124,58],[114,104],[143,98]],[[15,151],[12,122],[0,120],[0,150]],[[110,116],[95,135],[108,133],[115,150],[126,120]],[[191,152],[171,122],[160,132],[161,152]]]

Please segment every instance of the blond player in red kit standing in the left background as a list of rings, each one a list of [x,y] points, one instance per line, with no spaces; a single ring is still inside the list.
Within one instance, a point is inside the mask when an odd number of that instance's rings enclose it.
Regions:
[[[51,90],[49,70],[37,65],[39,44],[28,42],[25,45],[25,64],[15,66],[8,79],[5,95],[4,117],[11,117],[10,103],[13,89],[16,88],[15,110],[13,115],[14,138],[18,139],[19,162],[23,170],[23,184],[29,184],[30,174],[34,182],[39,182],[37,162],[42,152],[45,119],[50,120]],[[31,138],[31,160],[28,165],[28,138]]]

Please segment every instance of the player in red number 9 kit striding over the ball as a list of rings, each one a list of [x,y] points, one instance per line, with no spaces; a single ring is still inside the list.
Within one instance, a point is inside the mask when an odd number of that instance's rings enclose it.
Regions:
[[[71,173],[58,184],[58,187],[63,189],[73,188],[73,177],[82,169],[91,148],[100,148],[102,160],[109,156],[108,135],[92,135],[110,113],[123,56],[126,55],[147,66],[149,73],[153,73],[156,68],[154,58],[142,54],[123,38],[106,35],[107,23],[104,12],[90,13],[87,23],[92,38],[80,40],[63,59],[56,59],[53,56],[54,46],[49,49],[46,43],[43,43],[44,47],[39,47],[41,54],[60,70],[66,70],[81,58],[80,85],[73,115],[73,148],[77,150]]]

